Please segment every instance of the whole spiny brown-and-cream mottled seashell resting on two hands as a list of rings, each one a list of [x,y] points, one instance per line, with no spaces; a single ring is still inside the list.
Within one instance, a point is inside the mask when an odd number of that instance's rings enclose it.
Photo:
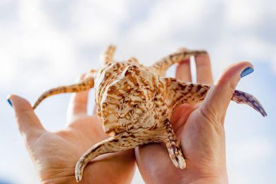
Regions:
[[[128,150],[146,143],[165,142],[175,167],[186,167],[184,156],[175,133],[170,115],[182,103],[201,103],[210,85],[184,83],[164,76],[170,65],[188,59],[191,55],[206,54],[204,50],[190,50],[170,54],[150,67],[139,64],[137,59],[115,62],[112,57],[115,46],[103,53],[103,67],[91,70],[81,83],[61,86],[43,93],[34,108],[46,97],[63,92],[79,92],[95,87],[97,114],[103,130],[112,137],[97,143],[81,156],[75,176],[81,180],[86,164],[108,152]],[[262,105],[254,96],[235,91],[233,101],[245,103],[266,116]]]

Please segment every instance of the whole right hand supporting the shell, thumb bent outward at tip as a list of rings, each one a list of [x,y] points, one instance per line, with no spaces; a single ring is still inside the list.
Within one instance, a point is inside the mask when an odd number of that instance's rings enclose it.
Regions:
[[[208,54],[195,57],[197,83],[213,84]],[[204,102],[180,105],[170,122],[181,144],[187,167],[172,164],[164,143],[135,148],[137,166],[146,183],[228,183],[224,118],[248,62],[231,65],[213,85]],[[190,82],[190,61],[177,65],[176,78]]]

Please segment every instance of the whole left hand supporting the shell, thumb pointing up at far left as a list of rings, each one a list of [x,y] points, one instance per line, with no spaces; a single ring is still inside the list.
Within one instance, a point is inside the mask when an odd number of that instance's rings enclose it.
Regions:
[[[68,125],[61,131],[43,128],[28,101],[9,98],[19,131],[42,183],[77,183],[75,164],[92,145],[107,139],[96,115],[88,116],[88,91],[72,94]],[[50,114],[49,114],[50,115]],[[130,183],[135,172],[133,150],[103,154],[86,166],[82,183]]]

